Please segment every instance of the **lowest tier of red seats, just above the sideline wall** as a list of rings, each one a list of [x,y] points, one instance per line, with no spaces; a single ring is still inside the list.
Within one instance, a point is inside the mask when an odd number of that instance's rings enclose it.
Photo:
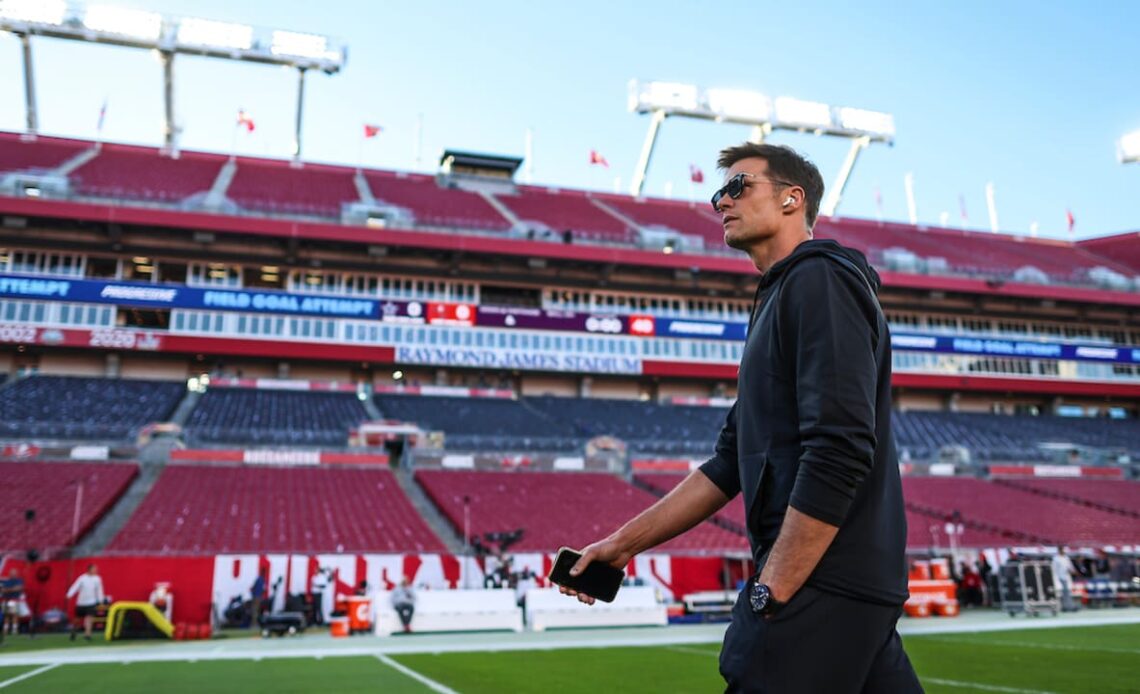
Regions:
[[[138,468],[108,463],[0,463],[0,550],[62,548],[89,530]],[[415,481],[462,534],[523,529],[513,548],[549,552],[612,532],[683,479],[642,474],[420,470]],[[73,522],[82,485],[79,534]],[[646,491],[650,490],[650,491]],[[1140,542],[1140,483],[904,477],[911,547]],[[34,511],[31,521],[26,511]],[[665,552],[747,550],[744,507],[667,542]],[[389,470],[168,466],[108,546],[114,553],[443,552]]]

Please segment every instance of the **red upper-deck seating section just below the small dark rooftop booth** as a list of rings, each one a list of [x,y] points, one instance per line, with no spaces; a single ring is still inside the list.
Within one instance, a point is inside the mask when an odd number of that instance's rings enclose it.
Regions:
[[[418,224],[499,232],[511,228],[478,194],[440,186],[431,175],[367,171],[365,180],[377,203],[410,211]]]

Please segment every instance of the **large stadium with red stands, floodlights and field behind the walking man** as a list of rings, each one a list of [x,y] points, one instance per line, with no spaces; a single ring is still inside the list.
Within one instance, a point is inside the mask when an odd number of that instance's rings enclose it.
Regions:
[[[0,2],[27,95],[27,126],[0,131],[0,575],[23,577],[0,687],[719,691],[752,572],[740,498],[637,556],[612,605],[546,578],[699,466],[736,397],[756,268],[707,202],[642,194],[668,117],[850,146],[815,236],[882,278],[899,630],[927,691],[1138,691],[1138,232],[842,217],[888,114],[662,82],[629,85],[651,119],[632,193],[465,148],[430,172],[318,163],[306,72],[335,80],[343,47],[49,5]],[[123,28],[144,19],[150,38]],[[161,52],[165,140],[105,141],[101,115],[97,138],[40,132],[44,38]],[[296,70],[294,156],[181,148],[182,52]],[[68,588],[91,564],[87,644]]]

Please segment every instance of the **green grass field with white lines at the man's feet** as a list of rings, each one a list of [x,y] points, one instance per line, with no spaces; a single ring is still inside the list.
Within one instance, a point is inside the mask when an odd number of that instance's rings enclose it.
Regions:
[[[1140,693],[1140,624],[911,636],[927,692]],[[51,644],[44,643],[44,646]],[[62,645],[62,644],[56,644]],[[81,648],[81,645],[75,646]],[[7,651],[6,651],[7,652]],[[8,692],[719,692],[718,645],[496,653],[60,664]],[[394,662],[396,666],[391,664]],[[0,667],[0,687],[35,671]]]

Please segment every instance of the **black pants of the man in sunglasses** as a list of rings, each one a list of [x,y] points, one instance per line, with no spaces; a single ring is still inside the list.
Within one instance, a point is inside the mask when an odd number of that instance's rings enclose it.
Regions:
[[[805,586],[774,617],[736,598],[720,650],[725,692],[758,694],[921,693],[895,630],[901,607]]]

